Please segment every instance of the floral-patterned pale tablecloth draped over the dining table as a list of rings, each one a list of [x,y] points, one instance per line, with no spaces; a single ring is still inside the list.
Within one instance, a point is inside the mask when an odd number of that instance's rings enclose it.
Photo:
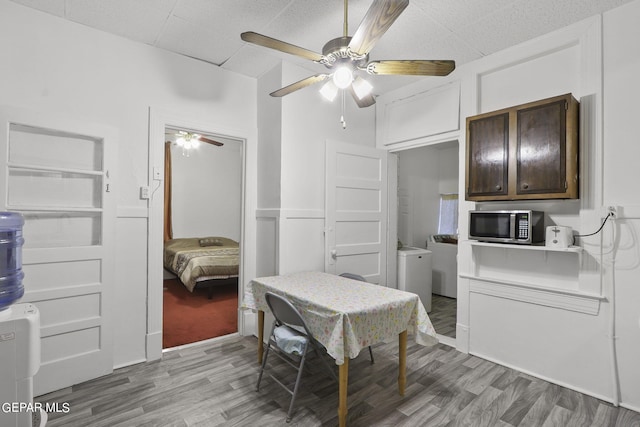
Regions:
[[[268,312],[266,292],[296,306],[338,365],[369,345],[397,339],[405,330],[418,344],[438,342],[420,298],[410,292],[313,271],[252,280],[244,307]]]

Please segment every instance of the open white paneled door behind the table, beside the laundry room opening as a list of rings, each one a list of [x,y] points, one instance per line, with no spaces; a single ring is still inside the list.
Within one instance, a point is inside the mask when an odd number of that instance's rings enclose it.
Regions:
[[[384,150],[327,141],[326,272],[387,284],[387,156]]]

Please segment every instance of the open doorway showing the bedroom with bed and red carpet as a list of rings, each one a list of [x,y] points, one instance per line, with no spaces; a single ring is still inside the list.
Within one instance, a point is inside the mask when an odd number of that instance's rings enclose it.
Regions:
[[[163,349],[238,332],[242,141],[165,128]]]

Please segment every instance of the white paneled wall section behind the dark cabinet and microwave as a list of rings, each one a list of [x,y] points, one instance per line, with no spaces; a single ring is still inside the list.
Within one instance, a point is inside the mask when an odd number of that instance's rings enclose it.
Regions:
[[[547,224],[568,225],[582,234],[597,229],[602,139],[593,129],[602,125],[600,51],[596,17],[468,65],[466,115],[572,93],[581,101],[582,149],[580,201],[472,203],[469,208],[538,209],[547,214]],[[460,216],[467,217],[464,208]],[[600,286],[596,242],[581,241],[582,255],[463,242],[458,289],[468,297],[468,307],[458,310],[462,345],[481,357],[612,399],[610,306]]]

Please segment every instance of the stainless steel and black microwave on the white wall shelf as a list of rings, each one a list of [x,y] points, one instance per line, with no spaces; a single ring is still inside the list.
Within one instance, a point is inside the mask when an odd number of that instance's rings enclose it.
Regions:
[[[469,238],[533,245],[544,242],[544,213],[532,210],[471,211]]]

